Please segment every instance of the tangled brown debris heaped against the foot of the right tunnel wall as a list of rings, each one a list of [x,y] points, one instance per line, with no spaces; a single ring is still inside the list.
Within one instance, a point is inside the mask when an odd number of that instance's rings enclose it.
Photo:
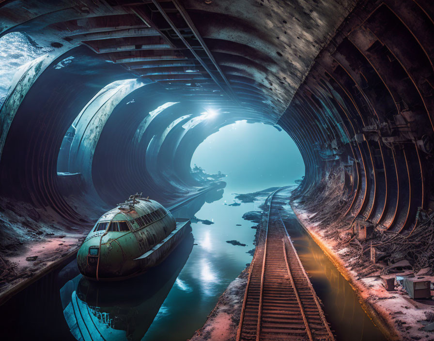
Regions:
[[[351,250],[347,256],[356,256],[362,277],[403,269],[417,273],[428,267],[430,270],[424,274],[434,273],[434,213],[419,209],[418,222],[408,235],[385,230],[364,219],[342,218],[351,201],[341,184],[339,170],[325,177],[319,188],[303,194],[294,191],[291,201],[310,214],[310,223],[326,227],[325,238],[334,239],[340,249]],[[364,234],[360,235],[358,225]]]

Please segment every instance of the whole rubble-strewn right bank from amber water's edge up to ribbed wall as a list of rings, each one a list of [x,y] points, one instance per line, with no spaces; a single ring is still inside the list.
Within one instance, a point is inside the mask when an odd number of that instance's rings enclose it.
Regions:
[[[408,237],[383,231],[341,217],[350,202],[337,174],[330,173],[320,187],[303,196],[295,191],[294,213],[353,286],[363,308],[390,340],[434,340],[434,300],[413,300],[402,286],[403,279],[434,282],[434,216],[420,211]]]

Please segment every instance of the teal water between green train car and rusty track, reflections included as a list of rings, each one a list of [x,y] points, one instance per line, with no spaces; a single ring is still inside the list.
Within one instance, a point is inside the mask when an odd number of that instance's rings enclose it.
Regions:
[[[65,279],[60,296],[70,334],[78,341],[189,339],[252,258],[256,230],[242,216],[263,200],[231,206],[234,196],[215,189],[173,209],[175,217],[199,221],[163,263],[137,278],[93,282],[78,275],[75,262],[68,264],[59,277]]]

